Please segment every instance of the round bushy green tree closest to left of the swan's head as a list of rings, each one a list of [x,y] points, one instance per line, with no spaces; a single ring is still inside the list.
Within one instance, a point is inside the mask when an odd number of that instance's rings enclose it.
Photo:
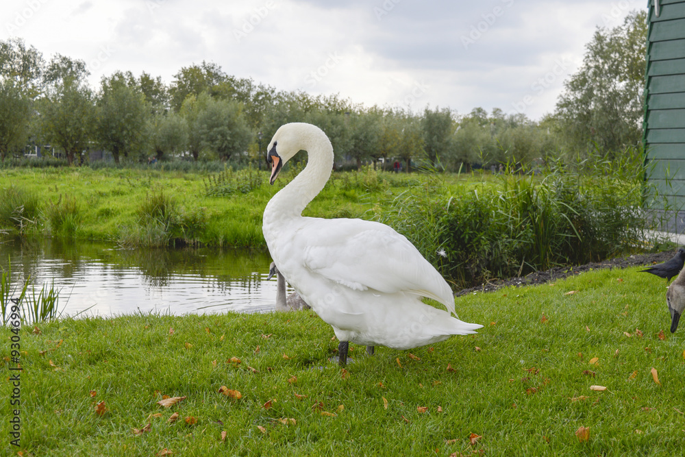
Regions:
[[[247,151],[253,138],[242,105],[233,100],[216,100],[210,97],[197,116],[197,129],[203,149],[216,153],[221,160]]]

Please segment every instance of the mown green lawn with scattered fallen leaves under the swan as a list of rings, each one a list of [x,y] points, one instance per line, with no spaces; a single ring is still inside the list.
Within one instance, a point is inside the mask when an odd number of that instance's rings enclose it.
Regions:
[[[460,317],[485,325],[479,334],[373,357],[351,345],[347,371],[328,361],[338,342],[310,311],[40,324],[20,333],[21,447],[9,445],[8,376],[0,447],[24,456],[677,455],[685,329],[669,332],[665,291],[628,269],[458,297]],[[165,408],[166,395],[184,399]]]

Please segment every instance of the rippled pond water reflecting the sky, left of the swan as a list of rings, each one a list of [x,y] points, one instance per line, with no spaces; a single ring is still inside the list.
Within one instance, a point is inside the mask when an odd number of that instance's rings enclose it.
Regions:
[[[275,305],[276,280],[266,281],[271,257],[262,251],[2,240],[5,270],[8,260],[14,284],[30,275],[36,295],[54,282],[63,316],[266,312]]]

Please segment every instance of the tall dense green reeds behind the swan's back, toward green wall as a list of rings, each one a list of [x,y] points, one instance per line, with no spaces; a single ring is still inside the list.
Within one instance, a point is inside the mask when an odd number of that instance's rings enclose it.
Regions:
[[[449,188],[440,175],[395,199],[386,222],[458,286],[599,261],[643,246],[641,164],[598,162]],[[610,173],[608,173],[610,171]]]

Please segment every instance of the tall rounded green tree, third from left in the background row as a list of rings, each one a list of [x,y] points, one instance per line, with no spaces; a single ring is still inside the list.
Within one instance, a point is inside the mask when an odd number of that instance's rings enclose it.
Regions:
[[[120,73],[103,78],[97,100],[97,138],[101,147],[112,152],[114,161],[121,156],[138,156],[145,151],[150,106],[145,95],[128,86]]]

